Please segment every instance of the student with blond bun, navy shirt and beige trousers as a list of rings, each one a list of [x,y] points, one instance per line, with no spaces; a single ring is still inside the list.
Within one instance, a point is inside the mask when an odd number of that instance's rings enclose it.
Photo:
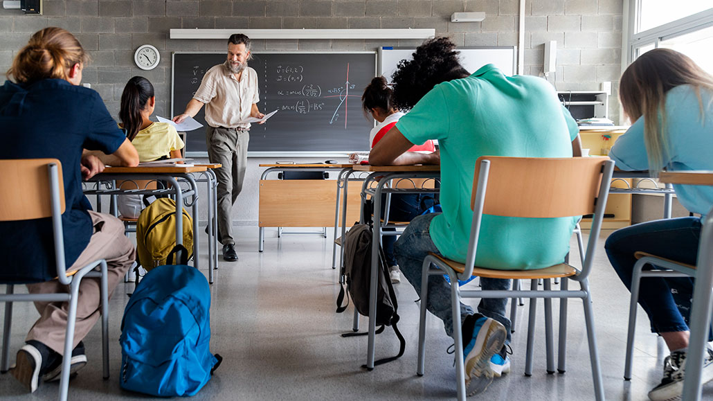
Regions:
[[[15,56],[0,88],[0,158],[57,158],[63,169],[67,209],[62,215],[68,272],[104,258],[113,290],[135,259],[124,226],[111,215],[94,213],[82,193],[82,178],[103,171],[102,151],[120,166],[136,166],[138,154],[96,91],[79,86],[88,56],[68,31],[36,32]],[[54,248],[50,218],[0,222],[0,266],[6,280],[32,283],[30,293],[68,291],[53,280]],[[81,340],[99,318],[99,281],[81,280],[71,371],[86,365]],[[66,330],[67,303],[36,302],[40,318],[17,352],[12,375],[30,392],[41,380],[59,380]]]

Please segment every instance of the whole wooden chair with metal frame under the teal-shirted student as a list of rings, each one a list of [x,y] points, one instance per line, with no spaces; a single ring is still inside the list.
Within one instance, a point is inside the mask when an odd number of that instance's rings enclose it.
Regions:
[[[604,387],[599,365],[592,311],[592,297],[588,276],[592,269],[604,207],[609,193],[614,162],[605,157],[591,158],[508,158],[483,156],[476,162],[473,182],[473,223],[466,255],[466,264],[438,257],[426,256],[421,287],[421,321],[419,325],[418,375],[424,374],[426,305],[429,275],[448,274],[451,283],[478,275],[486,278],[530,280],[530,290],[461,290],[451,285],[453,333],[456,347],[456,380],[458,400],[466,400],[463,339],[461,334],[461,298],[530,298],[528,350],[525,375],[532,374],[536,298],[545,298],[545,331],[547,332],[548,371],[554,372],[552,344],[552,316],[548,314],[551,298],[562,298],[560,310],[565,310],[566,298],[581,298],[592,364],[592,375],[597,400],[604,400]],[[487,190],[487,191],[486,191]],[[477,268],[476,244],[483,214],[520,218],[558,218],[594,213],[592,229],[582,270],[562,263],[539,270],[491,270]],[[435,265],[436,268],[432,268]],[[551,278],[562,278],[560,290],[550,288]],[[580,283],[580,290],[568,290],[568,280]],[[544,290],[537,290],[537,280],[544,280]],[[561,315],[560,315],[561,316]],[[566,322],[560,321],[562,327]],[[565,334],[560,327],[560,370],[564,370]]]

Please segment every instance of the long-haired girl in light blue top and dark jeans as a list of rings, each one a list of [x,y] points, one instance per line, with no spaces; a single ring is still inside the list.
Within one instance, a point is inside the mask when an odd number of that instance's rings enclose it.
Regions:
[[[648,168],[654,174],[663,168],[713,170],[713,76],[677,51],[655,49],[626,69],[619,93],[622,108],[634,123],[609,153],[618,168]],[[710,187],[674,186],[674,190],[692,213],[704,215],[713,204]],[[622,282],[631,288],[636,251],[695,265],[700,229],[699,217],[636,224],[612,233],[605,250]],[[682,315],[672,293],[691,294],[692,288],[690,278],[642,279],[639,303],[649,315],[652,332],[659,333],[671,351],[661,384],[649,392],[652,400],[681,395],[689,308]],[[690,306],[689,297],[685,298],[678,303]],[[713,378],[712,350],[706,352],[703,375],[704,382]]]

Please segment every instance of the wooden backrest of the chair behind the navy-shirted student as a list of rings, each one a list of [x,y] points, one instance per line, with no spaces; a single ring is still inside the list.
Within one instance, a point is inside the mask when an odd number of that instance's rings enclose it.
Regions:
[[[56,166],[60,214],[64,213],[62,165],[56,158],[0,160],[0,221],[52,216],[51,173]]]

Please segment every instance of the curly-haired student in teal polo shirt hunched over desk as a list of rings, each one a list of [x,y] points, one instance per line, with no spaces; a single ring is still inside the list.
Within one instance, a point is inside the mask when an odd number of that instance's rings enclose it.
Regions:
[[[476,159],[571,157],[573,148],[580,156],[578,127],[549,83],[533,76],[505,76],[491,64],[469,74],[446,38],[424,42],[413,61],[401,62],[392,81],[394,106],[411,111],[376,143],[369,163],[441,163],[443,213],[411,220],[395,246],[401,272],[420,293],[421,267],[429,252],[465,261]],[[428,139],[438,139],[440,153],[406,152]],[[486,235],[479,239],[476,265],[522,270],[563,263],[577,220],[485,215],[481,232]],[[449,284],[443,275],[431,275],[429,280],[428,310],[443,320],[446,334],[453,336]],[[510,280],[481,278],[483,290],[509,289],[510,284]],[[468,395],[486,390],[493,376],[510,369],[503,346],[510,336],[506,303],[506,299],[483,299],[478,313],[461,305]],[[483,365],[488,367],[478,367]]]

